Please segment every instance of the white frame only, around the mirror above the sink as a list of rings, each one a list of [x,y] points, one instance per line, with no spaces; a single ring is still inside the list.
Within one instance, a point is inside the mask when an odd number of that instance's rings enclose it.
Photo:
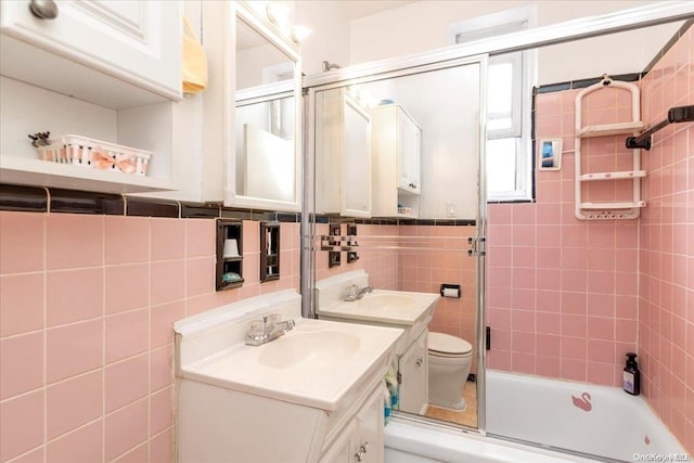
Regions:
[[[233,60],[224,60],[224,206],[250,207],[269,210],[301,210],[303,184],[303,99],[301,99],[301,56],[298,47],[283,38],[275,27],[266,18],[261,17],[252,7],[245,2],[232,2],[232,14],[230,15],[232,26],[227,38],[227,53],[224,55],[234,56]],[[278,82],[267,87],[267,92],[260,93],[257,87],[244,89],[236,92],[235,75],[235,50],[236,50],[236,22],[243,21],[257,34],[264,37],[270,44],[284,53],[294,63],[294,77],[286,82]],[[264,98],[285,98],[293,94],[294,104],[294,201],[278,201],[262,197],[245,196],[236,193],[236,133],[235,112],[237,99],[243,99],[248,103],[249,99],[262,101]]]

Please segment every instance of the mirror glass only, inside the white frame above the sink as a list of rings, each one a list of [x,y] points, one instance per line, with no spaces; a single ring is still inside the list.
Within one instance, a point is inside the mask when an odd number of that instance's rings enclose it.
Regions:
[[[235,194],[297,197],[296,63],[236,18]]]

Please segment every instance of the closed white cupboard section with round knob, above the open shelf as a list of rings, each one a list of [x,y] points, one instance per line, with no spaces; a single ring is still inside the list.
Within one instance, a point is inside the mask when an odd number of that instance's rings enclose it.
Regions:
[[[180,100],[181,4],[3,1],[1,74],[114,110]]]

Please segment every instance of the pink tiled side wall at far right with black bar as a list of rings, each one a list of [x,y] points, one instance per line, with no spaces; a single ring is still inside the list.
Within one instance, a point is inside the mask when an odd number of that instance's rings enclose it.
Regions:
[[[694,104],[694,28],[642,81],[646,124]],[[639,352],[643,393],[694,453],[694,124],[666,127],[642,158]]]

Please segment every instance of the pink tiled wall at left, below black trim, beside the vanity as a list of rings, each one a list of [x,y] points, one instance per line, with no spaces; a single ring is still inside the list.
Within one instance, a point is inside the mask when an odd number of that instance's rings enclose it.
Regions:
[[[298,288],[299,227],[282,278],[259,283],[244,222],[241,288],[215,292],[215,220],[0,213],[0,461],[169,463],[172,323]]]

